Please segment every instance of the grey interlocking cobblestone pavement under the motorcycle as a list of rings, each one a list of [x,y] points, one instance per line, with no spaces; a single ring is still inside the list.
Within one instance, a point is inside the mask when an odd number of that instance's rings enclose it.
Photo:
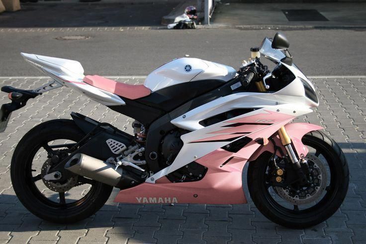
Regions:
[[[137,84],[142,78],[117,80]],[[74,111],[132,132],[130,118],[63,87],[30,100],[13,113],[0,134],[1,243],[366,243],[366,78],[312,80],[320,106],[299,120],[323,125],[343,148],[351,171],[347,198],[325,223],[305,230],[285,229],[264,218],[250,200],[246,205],[130,205],[113,203],[113,196],[80,223],[42,221],[18,202],[10,183],[13,149],[30,128],[51,119],[70,118]],[[46,82],[45,78],[0,78],[0,86],[23,89]],[[6,94],[1,93],[0,104],[5,102]]]

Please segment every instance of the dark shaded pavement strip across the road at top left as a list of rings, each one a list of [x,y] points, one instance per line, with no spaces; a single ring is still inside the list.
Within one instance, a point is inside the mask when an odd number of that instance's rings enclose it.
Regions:
[[[178,0],[77,0],[21,3],[17,12],[0,14],[0,27],[120,27],[160,26]]]

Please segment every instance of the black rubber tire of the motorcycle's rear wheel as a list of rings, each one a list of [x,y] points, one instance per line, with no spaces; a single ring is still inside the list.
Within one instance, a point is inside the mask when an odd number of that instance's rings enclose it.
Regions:
[[[80,194],[81,199],[76,201],[73,201],[73,199],[65,200],[68,191],[65,194],[60,190],[55,192],[44,187],[52,193],[53,198],[51,199],[51,197],[48,198],[50,194],[48,196],[43,194],[45,190],[40,190],[37,187],[43,180],[41,174],[33,175],[36,171],[34,162],[37,161],[37,158],[40,158],[41,148],[45,148],[46,152],[43,150],[43,153],[47,155],[48,152],[49,156],[51,146],[48,143],[50,141],[68,140],[78,142],[84,136],[85,134],[74,121],[53,120],[35,126],[19,141],[11,159],[11,182],[19,201],[32,214],[50,222],[74,223],[94,214],[108,200],[113,189],[112,186],[82,177],[77,179],[83,180],[83,182],[76,183],[74,188],[79,187],[78,184],[89,184],[91,186],[89,191]],[[67,146],[63,148],[67,148]]]

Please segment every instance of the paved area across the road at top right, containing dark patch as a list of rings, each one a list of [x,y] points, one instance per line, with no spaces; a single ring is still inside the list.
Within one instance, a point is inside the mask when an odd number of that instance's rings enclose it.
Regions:
[[[215,26],[252,28],[366,28],[366,2],[218,3]]]

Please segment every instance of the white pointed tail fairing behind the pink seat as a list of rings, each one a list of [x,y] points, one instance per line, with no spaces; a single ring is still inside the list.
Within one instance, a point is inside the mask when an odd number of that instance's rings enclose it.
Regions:
[[[21,53],[23,58],[58,83],[73,88],[105,106],[125,105],[117,95],[93,87],[83,81],[83,66],[74,60]]]

